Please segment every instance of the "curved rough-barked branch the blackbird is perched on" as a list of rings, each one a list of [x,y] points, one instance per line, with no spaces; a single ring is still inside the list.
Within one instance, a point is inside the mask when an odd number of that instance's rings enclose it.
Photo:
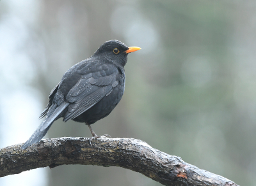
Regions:
[[[46,166],[90,164],[131,169],[163,185],[237,185],[136,139],[98,138],[90,145],[89,138],[56,138],[26,150],[20,145],[0,149],[0,177]]]

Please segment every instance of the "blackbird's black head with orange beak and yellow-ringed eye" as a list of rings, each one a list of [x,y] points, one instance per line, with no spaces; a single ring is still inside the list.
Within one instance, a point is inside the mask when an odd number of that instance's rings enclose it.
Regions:
[[[140,50],[140,47],[127,47],[124,43],[118,40],[109,40],[100,45],[98,50],[92,55],[93,57],[104,57],[114,64],[125,66],[127,55],[130,52]]]

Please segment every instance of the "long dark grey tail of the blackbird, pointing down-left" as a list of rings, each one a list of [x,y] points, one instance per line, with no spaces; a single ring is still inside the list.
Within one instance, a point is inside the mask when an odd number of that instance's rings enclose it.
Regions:
[[[68,106],[69,103],[62,103],[60,106],[56,106],[53,104],[47,113],[44,121],[39,125],[36,131],[32,134],[32,136],[22,145],[22,149],[25,149],[32,145],[33,143],[37,143],[38,141],[42,140],[45,136],[46,132],[50,129],[52,123],[60,118],[60,114],[65,108]]]

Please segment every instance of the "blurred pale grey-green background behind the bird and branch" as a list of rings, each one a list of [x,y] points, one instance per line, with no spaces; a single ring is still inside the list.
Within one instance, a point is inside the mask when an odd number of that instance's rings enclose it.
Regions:
[[[239,185],[256,182],[256,1],[0,1],[0,147],[40,124],[49,92],[109,39],[129,54],[125,94],[97,134],[137,138]],[[90,137],[54,122],[45,138]],[[160,185],[100,166],[40,168],[0,185]]]

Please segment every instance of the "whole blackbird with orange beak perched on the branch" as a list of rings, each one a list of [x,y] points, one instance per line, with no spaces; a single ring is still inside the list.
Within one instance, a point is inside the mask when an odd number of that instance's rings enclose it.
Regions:
[[[118,40],[106,41],[91,57],[68,69],[49,95],[49,103],[40,115],[44,121],[21,148],[40,141],[61,117],[64,122],[84,122],[93,138],[99,137],[90,125],[108,116],[119,103],[124,94],[127,55],[140,49]]]

